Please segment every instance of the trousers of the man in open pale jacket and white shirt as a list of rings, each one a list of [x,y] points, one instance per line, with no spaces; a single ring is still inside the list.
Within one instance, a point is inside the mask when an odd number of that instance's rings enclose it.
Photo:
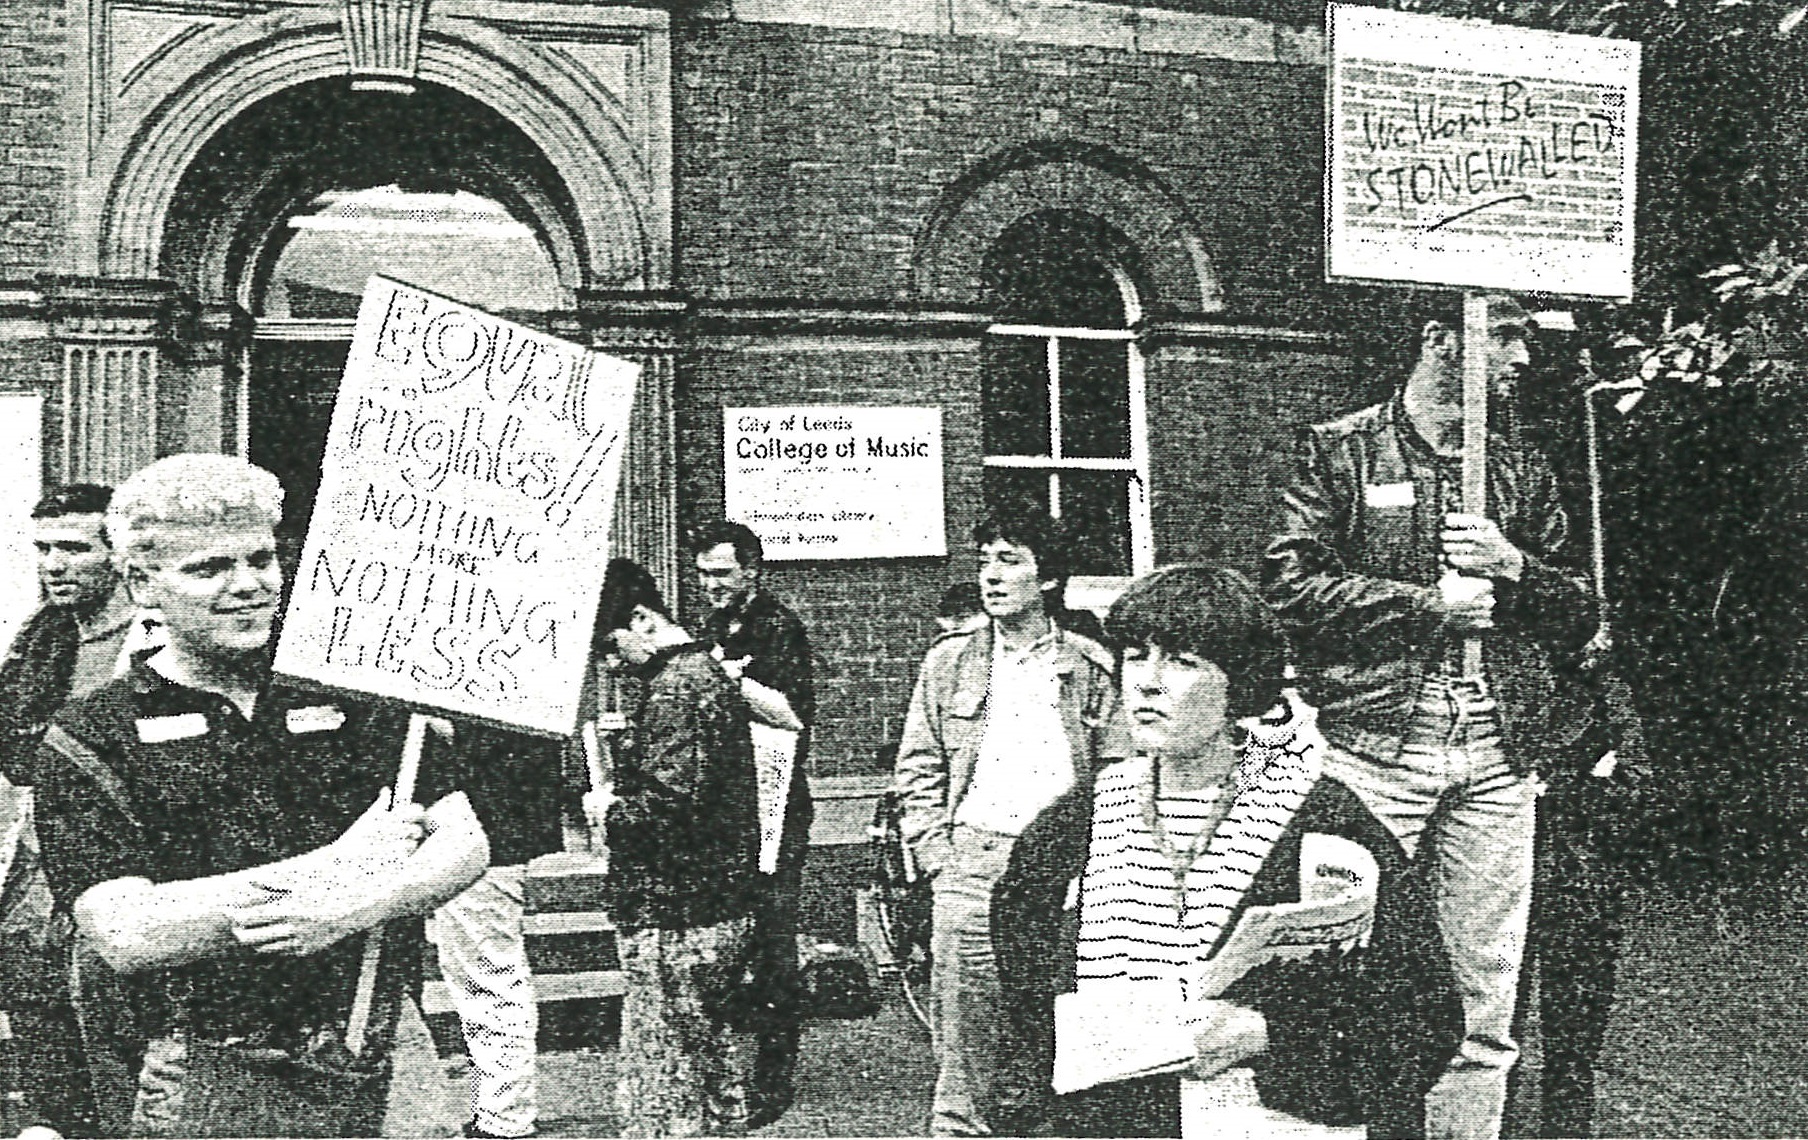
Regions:
[[[1032,1106],[1029,1042],[1018,1041],[998,988],[993,956],[993,887],[1011,860],[1014,836],[955,827],[955,851],[933,880],[935,1136],[1009,1131],[1005,1113]]]

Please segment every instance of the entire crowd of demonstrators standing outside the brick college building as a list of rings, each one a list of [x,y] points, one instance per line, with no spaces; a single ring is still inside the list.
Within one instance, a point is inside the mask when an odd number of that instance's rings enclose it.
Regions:
[[[1258,580],[1161,567],[1099,623],[1065,607],[1061,522],[1000,506],[975,528],[895,750],[933,894],[926,1133],[1499,1136],[1528,947],[1544,1133],[1589,1129],[1620,907],[1589,797],[1638,726],[1549,468],[1492,441],[1466,511],[1463,323],[1416,334],[1387,401],[1302,430]],[[1497,298],[1497,387],[1526,338]],[[532,1135],[523,865],[560,846],[577,744],[273,677],[282,490],[240,459],[56,488],[34,519],[42,605],[0,665],[22,1124],[385,1135],[392,1077],[430,1048],[430,939],[465,1133]],[[805,1017],[810,640],[749,528],[692,553],[694,629],[615,558],[591,645],[622,724],[589,804],[640,1136],[776,1122]],[[763,820],[768,732],[792,766]],[[1331,880],[1356,900],[1336,921]],[[1099,1010],[1125,1050],[1184,1048],[1074,1079]]]

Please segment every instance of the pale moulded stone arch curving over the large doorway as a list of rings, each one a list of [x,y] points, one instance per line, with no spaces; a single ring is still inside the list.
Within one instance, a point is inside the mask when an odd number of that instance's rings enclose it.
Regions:
[[[564,182],[579,258],[568,289],[669,284],[662,155],[645,154],[606,92],[523,40],[454,18],[430,22],[418,74],[508,119]],[[98,217],[80,226],[96,242],[92,264],[107,276],[157,276],[177,186],[208,139],[273,94],[345,76],[342,29],[325,7],[239,20],[161,56],[110,116],[127,130],[98,155],[110,163],[107,192]],[[210,291],[222,284],[208,282]]]

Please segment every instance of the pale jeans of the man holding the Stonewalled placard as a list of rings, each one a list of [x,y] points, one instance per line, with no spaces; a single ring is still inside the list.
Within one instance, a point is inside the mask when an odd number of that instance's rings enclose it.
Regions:
[[[1475,681],[1427,677],[1398,759],[1332,748],[1336,777],[1427,860],[1437,925],[1463,990],[1463,1046],[1425,1098],[1434,1140],[1501,1135],[1519,1057],[1513,1001],[1531,909],[1537,786],[1501,746],[1499,715]]]

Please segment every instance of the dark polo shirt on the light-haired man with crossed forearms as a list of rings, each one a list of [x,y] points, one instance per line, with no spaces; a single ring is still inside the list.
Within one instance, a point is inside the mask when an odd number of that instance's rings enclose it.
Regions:
[[[116,777],[108,790],[61,757],[43,764],[38,827],[67,907],[114,878],[204,878],[331,842],[394,782],[407,714],[273,683],[246,721],[226,697],[139,663],[65,706],[54,728]],[[414,799],[432,804],[459,782],[456,759],[430,748]],[[391,923],[383,997],[418,985],[419,938],[419,920]],[[175,1023],[208,1041],[298,1048],[344,1028],[362,956],[360,936],[311,958],[239,950],[134,977],[134,1005],[152,1035]]]

